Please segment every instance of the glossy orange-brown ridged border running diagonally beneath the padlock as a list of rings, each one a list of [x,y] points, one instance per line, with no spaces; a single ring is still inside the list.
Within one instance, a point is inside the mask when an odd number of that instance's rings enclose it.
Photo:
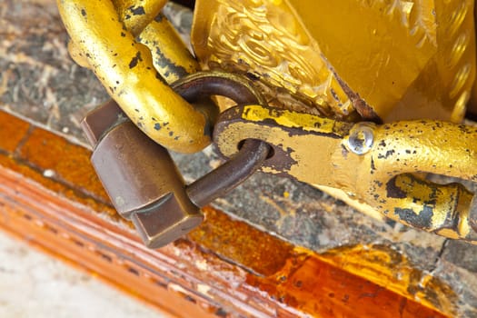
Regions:
[[[212,208],[188,237],[148,250],[89,155],[0,112],[0,226],[172,316],[444,316]]]

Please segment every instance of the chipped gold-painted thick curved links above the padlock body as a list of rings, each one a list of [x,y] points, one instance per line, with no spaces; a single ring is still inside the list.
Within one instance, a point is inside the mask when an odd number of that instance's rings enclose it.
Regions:
[[[184,45],[174,49],[181,43],[178,36],[169,36],[174,30],[156,18],[165,2],[58,0],[57,5],[76,60],[94,71],[134,124],[168,149],[194,153],[210,144],[211,123],[169,86],[197,63]]]

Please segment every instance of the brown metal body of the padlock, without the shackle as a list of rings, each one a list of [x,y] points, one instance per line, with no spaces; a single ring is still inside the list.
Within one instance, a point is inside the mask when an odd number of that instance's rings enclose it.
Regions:
[[[91,161],[114,208],[134,223],[148,247],[174,241],[203,221],[170,154],[114,101],[88,114],[83,127],[96,144]]]

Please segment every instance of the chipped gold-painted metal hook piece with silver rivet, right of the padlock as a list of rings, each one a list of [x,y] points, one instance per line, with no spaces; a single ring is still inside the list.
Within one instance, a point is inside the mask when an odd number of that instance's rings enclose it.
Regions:
[[[462,184],[419,176],[477,181],[476,127],[430,120],[350,124],[261,105],[221,114],[214,141],[224,156],[246,138],[273,146],[265,173],[341,189],[350,201],[397,222],[477,243],[473,194]]]

